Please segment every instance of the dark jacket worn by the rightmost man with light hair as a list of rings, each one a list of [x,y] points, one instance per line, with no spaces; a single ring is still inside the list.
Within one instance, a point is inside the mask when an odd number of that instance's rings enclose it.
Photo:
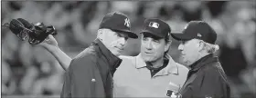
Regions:
[[[182,98],[230,98],[227,76],[218,57],[208,54],[191,64],[181,95]]]

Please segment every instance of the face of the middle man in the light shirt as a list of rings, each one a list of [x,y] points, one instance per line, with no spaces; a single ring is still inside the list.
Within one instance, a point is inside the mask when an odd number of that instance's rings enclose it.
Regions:
[[[155,35],[144,33],[141,43],[141,54],[144,62],[155,62],[164,56],[165,38],[157,38]]]

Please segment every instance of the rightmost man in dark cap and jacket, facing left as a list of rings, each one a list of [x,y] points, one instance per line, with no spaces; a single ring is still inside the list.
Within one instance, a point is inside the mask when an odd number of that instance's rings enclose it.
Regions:
[[[219,50],[216,32],[206,22],[191,21],[182,34],[172,36],[181,41],[178,50],[191,68],[180,91],[182,98],[229,98],[227,76],[213,55]]]

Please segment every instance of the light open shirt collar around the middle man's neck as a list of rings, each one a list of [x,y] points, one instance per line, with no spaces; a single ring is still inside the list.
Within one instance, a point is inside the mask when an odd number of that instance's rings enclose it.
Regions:
[[[164,69],[162,69],[161,71],[159,71],[158,73],[155,73],[155,76],[167,75],[169,73],[178,74],[178,67],[177,67],[176,62],[173,60],[173,58],[168,54],[165,54],[165,57],[169,60],[167,66]],[[145,64],[141,54],[138,54],[137,56],[135,56],[135,61],[136,61],[135,67],[137,69],[146,68],[146,64]]]

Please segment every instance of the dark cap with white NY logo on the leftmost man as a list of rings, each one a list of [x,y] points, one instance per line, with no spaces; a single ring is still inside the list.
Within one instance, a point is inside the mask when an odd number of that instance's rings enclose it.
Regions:
[[[128,16],[119,12],[112,12],[105,15],[99,29],[101,28],[126,33],[130,38],[138,38],[138,35],[131,31],[131,23]]]

